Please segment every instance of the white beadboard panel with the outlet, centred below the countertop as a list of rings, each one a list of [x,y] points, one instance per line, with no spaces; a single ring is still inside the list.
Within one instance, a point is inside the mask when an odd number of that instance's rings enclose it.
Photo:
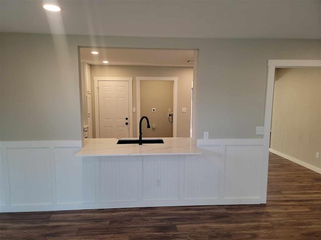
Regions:
[[[179,199],[180,156],[143,156],[143,200]]]

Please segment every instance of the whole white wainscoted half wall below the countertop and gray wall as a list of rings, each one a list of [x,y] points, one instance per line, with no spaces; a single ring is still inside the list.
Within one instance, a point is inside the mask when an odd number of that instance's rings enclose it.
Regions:
[[[202,154],[78,157],[81,141],[0,142],[0,211],[265,202],[263,139],[197,144]]]

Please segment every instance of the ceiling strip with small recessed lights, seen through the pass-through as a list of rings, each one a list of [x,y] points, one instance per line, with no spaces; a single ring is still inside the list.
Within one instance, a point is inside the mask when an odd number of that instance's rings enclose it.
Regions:
[[[92,54],[98,51],[99,54]],[[194,66],[194,50],[141,49],[141,48],[80,48],[81,61],[89,64],[149,65],[149,66]]]

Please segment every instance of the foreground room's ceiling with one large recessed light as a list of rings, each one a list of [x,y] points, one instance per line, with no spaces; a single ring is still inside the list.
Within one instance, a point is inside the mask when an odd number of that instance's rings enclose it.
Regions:
[[[43,2],[63,10],[45,12]],[[3,32],[321,39],[321,0],[0,0]]]

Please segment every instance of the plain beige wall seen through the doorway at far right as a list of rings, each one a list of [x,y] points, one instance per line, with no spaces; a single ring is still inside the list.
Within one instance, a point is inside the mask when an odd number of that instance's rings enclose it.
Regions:
[[[277,68],[271,148],[321,169],[321,68]]]

